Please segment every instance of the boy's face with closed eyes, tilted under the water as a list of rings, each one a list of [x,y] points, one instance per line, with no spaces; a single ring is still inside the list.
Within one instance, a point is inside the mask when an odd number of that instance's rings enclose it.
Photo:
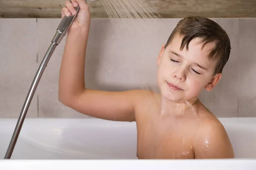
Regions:
[[[163,97],[183,103],[198,99],[204,88],[212,90],[221,74],[213,75],[217,61],[208,57],[214,43],[202,49],[201,39],[195,38],[189,42],[189,51],[186,46],[180,51],[182,38],[175,36],[166,49],[162,46],[157,58],[157,84]]]

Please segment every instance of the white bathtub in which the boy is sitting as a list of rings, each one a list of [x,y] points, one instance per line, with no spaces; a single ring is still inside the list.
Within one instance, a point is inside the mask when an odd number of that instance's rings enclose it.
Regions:
[[[237,169],[239,165],[243,169],[250,169],[251,167],[256,170],[256,118],[220,118],[220,121],[230,136],[235,159],[154,160],[148,162],[131,160],[137,159],[135,122],[113,122],[102,119],[25,119],[12,158],[11,160],[1,160],[0,169],[2,169],[1,166],[10,167],[12,162],[15,162],[12,166],[19,167],[28,167],[32,164],[41,164],[39,167],[53,166],[53,164],[68,167],[68,164],[77,161],[79,164],[84,164],[81,165],[83,167],[90,167],[90,164],[95,166],[105,164],[105,168],[112,166],[111,169],[114,168],[113,166],[116,166],[117,169],[123,169],[123,167],[118,166],[125,166],[125,164],[130,165],[129,169],[139,166],[144,168],[148,166],[147,168],[150,169],[158,165],[164,165],[163,168],[167,169],[168,166],[200,169],[201,166],[207,164],[208,170],[209,168],[219,168],[219,166]],[[1,158],[6,153],[16,123],[17,119],[0,119]],[[99,159],[130,160],[107,161]],[[101,163],[95,163],[95,161]],[[186,164],[184,164],[185,162]],[[228,165],[229,163],[231,164]]]

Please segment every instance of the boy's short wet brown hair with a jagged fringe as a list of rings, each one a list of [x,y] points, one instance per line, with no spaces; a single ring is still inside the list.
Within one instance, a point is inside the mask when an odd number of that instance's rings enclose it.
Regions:
[[[229,59],[231,47],[230,39],[221,26],[206,17],[185,17],[177,23],[164,48],[177,34],[183,36],[180,50],[183,50],[185,45],[186,50],[189,50],[189,42],[197,37],[202,38],[202,48],[209,42],[215,42],[215,48],[210,52],[209,59],[218,59],[213,75],[222,73],[224,65]]]

